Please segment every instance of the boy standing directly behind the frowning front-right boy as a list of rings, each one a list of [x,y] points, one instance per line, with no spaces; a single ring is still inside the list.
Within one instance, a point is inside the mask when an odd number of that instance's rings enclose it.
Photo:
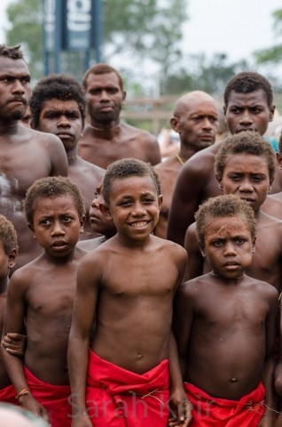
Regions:
[[[247,274],[278,289],[282,284],[282,222],[265,214],[265,201],[276,171],[276,158],[270,144],[254,132],[241,132],[226,138],[215,158],[215,174],[223,194],[235,194],[250,205],[256,219],[255,254]],[[195,224],[187,230],[188,252],[184,279],[208,272],[200,254]]]

